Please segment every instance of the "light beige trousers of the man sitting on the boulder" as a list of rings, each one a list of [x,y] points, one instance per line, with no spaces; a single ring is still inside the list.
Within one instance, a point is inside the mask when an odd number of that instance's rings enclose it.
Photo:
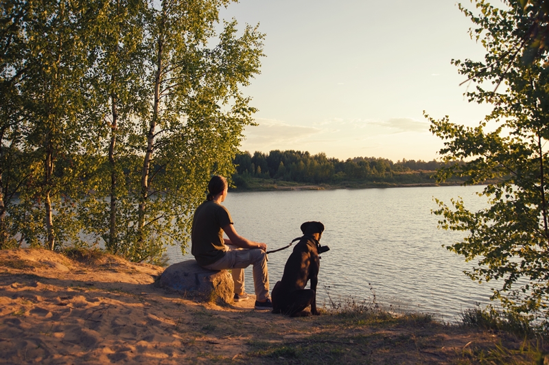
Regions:
[[[210,265],[209,270],[231,269],[235,282],[235,293],[244,292],[244,268],[253,265],[253,284],[257,301],[269,298],[269,273],[267,271],[267,254],[260,248],[237,248],[226,245],[225,256]]]

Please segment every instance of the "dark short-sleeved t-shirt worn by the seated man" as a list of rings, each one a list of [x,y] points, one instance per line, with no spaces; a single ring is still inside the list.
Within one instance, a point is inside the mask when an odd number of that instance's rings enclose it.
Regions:
[[[231,214],[221,204],[207,200],[194,212],[191,253],[200,266],[207,266],[225,255],[222,227],[233,224]]]

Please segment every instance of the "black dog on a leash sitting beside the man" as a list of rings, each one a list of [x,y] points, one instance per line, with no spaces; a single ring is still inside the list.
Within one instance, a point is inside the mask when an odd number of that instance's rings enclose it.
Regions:
[[[316,310],[316,285],[320,268],[318,254],[329,250],[327,246],[320,246],[318,243],[323,231],[324,224],[320,222],[301,224],[303,237],[286,261],[282,280],[272,288],[272,313],[283,313],[292,317],[309,316],[309,312],[303,309],[310,305],[312,314],[320,314]],[[311,288],[305,289],[309,280]]]

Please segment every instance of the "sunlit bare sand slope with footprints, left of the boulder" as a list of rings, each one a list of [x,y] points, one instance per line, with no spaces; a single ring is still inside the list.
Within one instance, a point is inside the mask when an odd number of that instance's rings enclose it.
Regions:
[[[0,251],[0,362],[181,364],[189,347],[217,344],[181,331],[192,321],[189,311],[202,307],[152,285],[163,268],[103,261],[85,265],[47,250]],[[240,353],[215,347],[223,357]]]

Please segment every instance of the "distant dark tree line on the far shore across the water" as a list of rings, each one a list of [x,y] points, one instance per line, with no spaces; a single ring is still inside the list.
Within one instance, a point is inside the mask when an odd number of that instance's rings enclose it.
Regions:
[[[439,161],[414,161],[403,158],[393,163],[387,158],[355,157],[347,160],[328,158],[325,153],[309,154],[294,150],[240,152],[235,156],[237,187],[246,188],[246,179],[274,178],[297,183],[321,184],[343,181],[377,183],[435,183],[432,175],[443,166]],[[411,174],[416,172],[417,174]]]

